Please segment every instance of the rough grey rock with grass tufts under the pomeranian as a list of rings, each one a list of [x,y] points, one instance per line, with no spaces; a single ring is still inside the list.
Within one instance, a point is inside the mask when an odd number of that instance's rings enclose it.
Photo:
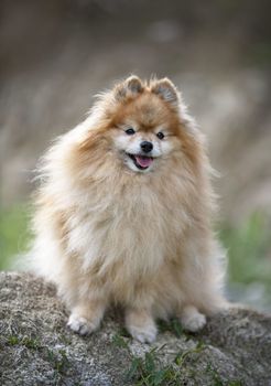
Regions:
[[[153,345],[133,342],[111,311],[82,337],[66,328],[55,289],[0,274],[1,385],[271,385],[271,318],[232,308],[198,334],[160,323]]]

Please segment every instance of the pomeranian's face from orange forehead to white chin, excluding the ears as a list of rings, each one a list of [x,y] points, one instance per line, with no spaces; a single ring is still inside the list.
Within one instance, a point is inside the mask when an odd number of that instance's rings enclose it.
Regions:
[[[129,169],[150,172],[176,148],[176,122],[172,115],[163,101],[150,93],[121,108],[121,115],[115,120],[112,141]]]

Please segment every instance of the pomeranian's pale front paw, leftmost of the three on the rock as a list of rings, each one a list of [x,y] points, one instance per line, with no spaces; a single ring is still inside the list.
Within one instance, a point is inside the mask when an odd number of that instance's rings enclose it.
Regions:
[[[80,335],[90,334],[99,328],[105,309],[101,299],[82,301],[72,309],[67,325]]]

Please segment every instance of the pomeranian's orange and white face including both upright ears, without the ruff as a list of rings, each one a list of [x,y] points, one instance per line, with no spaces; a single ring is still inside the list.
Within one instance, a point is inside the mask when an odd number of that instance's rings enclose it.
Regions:
[[[110,130],[113,150],[131,171],[154,171],[183,144],[177,92],[167,79],[143,86],[132,77],[121,87],[115,90],[119,106]]]

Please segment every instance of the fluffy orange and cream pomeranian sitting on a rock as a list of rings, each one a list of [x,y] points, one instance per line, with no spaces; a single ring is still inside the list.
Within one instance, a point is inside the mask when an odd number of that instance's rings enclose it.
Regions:
[[[225,305],[210,174],[167,78],[128,77],[56,140],[40,165],[34,262],[73,331],[91,333],[120,304],[129,333],[153,342],[155,319],[175,315],[194,332]]]

